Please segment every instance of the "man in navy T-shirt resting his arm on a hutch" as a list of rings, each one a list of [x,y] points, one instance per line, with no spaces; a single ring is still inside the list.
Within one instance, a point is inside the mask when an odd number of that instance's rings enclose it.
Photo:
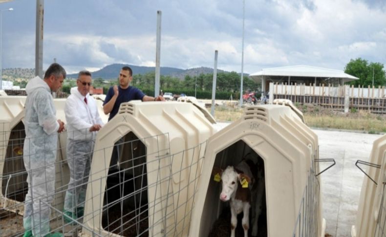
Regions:
[[[140,89],[130,86],[133,80],[133,72],[129,66],[122,67],[119,72],[119,86],[111,86],[103,103],[103,111],[105,114],[110,113],[108,120],[110,121],[119,110],[121,103],[131,100],[142,101],[165,101],[164,97],[157,96],[156,98],[145,95]]]

